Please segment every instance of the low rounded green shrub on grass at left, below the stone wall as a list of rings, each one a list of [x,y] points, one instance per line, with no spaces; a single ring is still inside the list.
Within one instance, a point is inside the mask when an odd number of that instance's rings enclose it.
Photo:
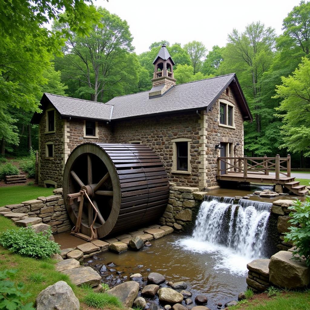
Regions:
[[[8,229],[0,234],[0,245],[14,253],[38,259],[60,254],[59,244],[49,240],[51,228],[44,233],[37,233],[29,227]]]

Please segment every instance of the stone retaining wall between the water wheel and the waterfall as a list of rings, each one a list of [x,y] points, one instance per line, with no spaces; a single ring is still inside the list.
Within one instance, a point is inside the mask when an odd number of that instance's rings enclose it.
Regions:
[[[173,227],[176,232],[191,231],[205,194],[207,193],[199,192],[199,188],[170,183],[168,205],[159,223]]]

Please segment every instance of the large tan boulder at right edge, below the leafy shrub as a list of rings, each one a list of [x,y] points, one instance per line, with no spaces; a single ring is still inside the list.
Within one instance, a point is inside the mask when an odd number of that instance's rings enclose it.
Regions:
[[[280,251],[270,258],[269,281],[283,288],[303,288],[310,283],[310,270],[304,260],[293,259],[292,252]]]

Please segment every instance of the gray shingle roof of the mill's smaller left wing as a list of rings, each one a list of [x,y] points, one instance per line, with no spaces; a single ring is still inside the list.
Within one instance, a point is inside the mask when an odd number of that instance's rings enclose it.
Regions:
[[[112,106],[99,102],[64,97],[45,93],[58,112],[63,116],[110,120]]]

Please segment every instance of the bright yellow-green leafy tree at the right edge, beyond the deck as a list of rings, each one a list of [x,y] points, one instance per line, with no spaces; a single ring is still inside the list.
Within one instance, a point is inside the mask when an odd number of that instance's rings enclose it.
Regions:
[[[289,77],[282,77],[275,98],[282,101],[276,108],[283,122],[282,148],[290,152],[303,152],[310,157],[310,60],[303,58],[302,63]]]

